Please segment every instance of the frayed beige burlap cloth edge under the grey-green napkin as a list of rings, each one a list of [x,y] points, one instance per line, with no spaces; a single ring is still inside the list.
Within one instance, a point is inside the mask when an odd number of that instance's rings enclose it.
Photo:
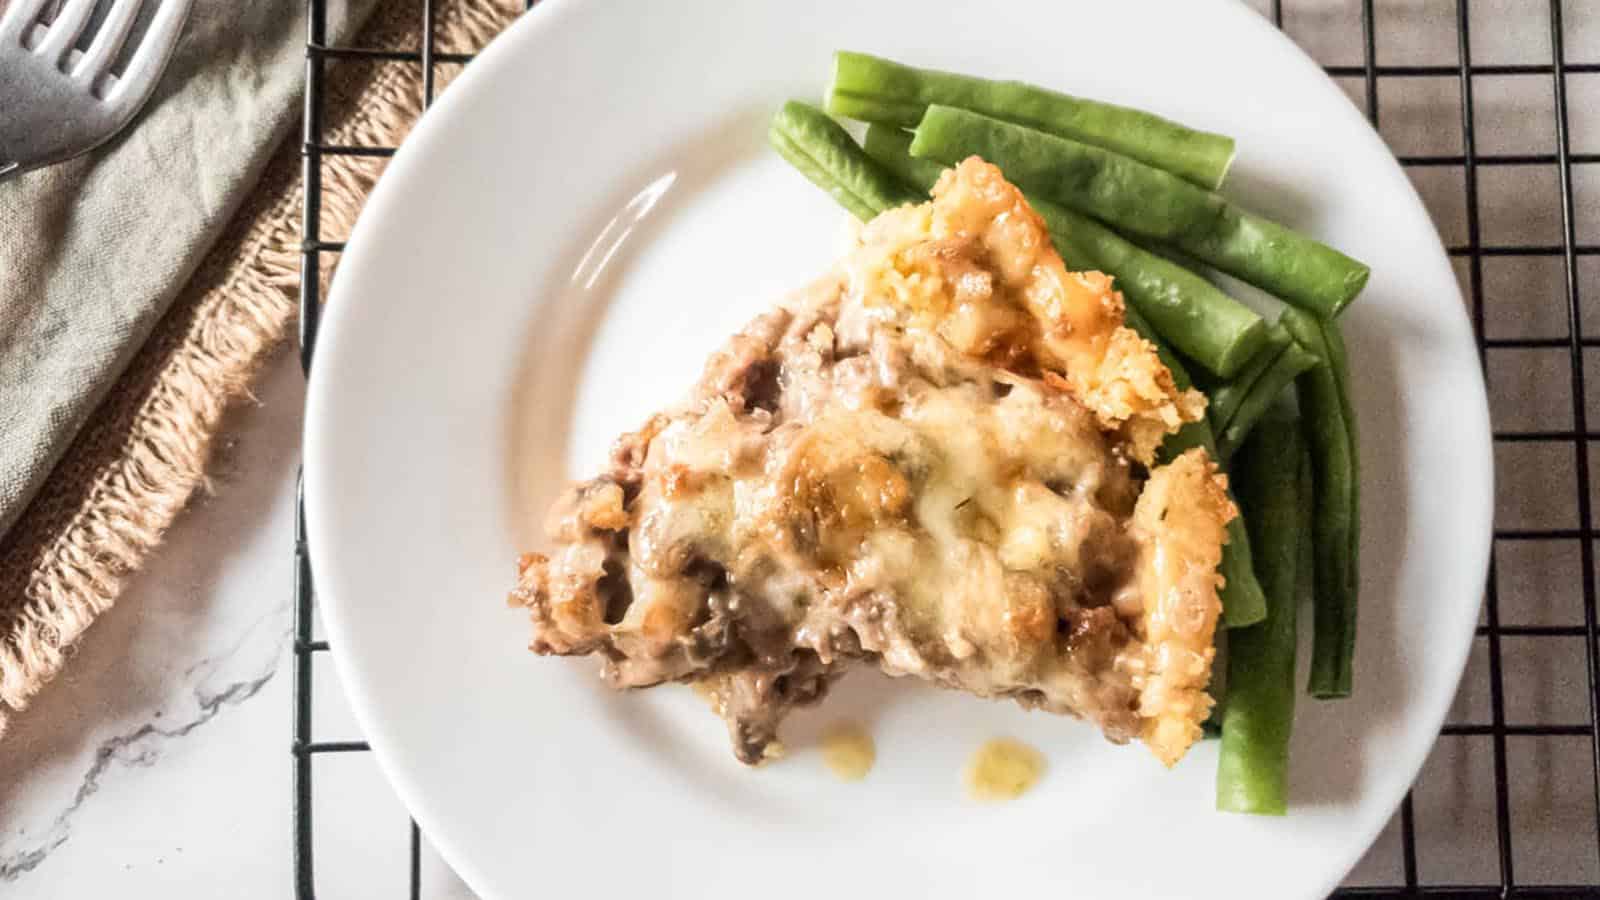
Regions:
[[[386,0],[355,45],[416,50],[418,6]],[[437,48],[480,50],[522,8],[517,0],[443,0],[435,6]],[[435,90],[458,69],[438,66]],[[416,64],[331,61],[326,78],[333,144],[398,144],[422,110]],[[378,173],[371,159],[325,160],[323,235],[349,234]],[[205,485],[222,413],[285,346],[299,283],[301,203],[294,135],[0,538],[0,733],[6,716],[61,671],[72,644]]]

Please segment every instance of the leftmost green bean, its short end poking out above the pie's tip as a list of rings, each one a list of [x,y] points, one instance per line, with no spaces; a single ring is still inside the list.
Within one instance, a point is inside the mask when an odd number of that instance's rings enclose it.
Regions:
[[[922,200],[883,173],[840,123],[814,106],[786,102],[773,115],[766,139],[779,155],[861,221],[891,207]]]

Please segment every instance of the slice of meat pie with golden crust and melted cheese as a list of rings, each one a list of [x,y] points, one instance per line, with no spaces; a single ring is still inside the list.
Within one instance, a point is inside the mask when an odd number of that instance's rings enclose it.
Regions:
[[[1082,716],[1165,764],[1200,735],[1224,525],[1203,413],[970,159],[734,335],[550,516],[533,650],[693,682],[739,759],[851,666]]]

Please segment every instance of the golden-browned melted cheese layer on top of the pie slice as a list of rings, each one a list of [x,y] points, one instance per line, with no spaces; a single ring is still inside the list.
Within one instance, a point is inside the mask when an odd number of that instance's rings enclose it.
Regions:
[[[693,589],[680,589],[674,554],[694,541],[741,589],[798,620],[797,642],[824,658],[840,610],[866,617],[874,599],[893,597],[896,628],[858,629],[885,669],[954,666],[970,690],[1026,687],[1058,612],[1109,602],[1109,585],[1096,599],[1070,573],[1112,580],[1133,560],[1118,527],[1131,512],[1128,466],[1090,416],[1037,383],[918,388],[890,415],[835,386],[805,426],[779,426],[744,466],[714,460],[742,428],[725,408],[669,426],[646,471],[672,476],[646,479],[637,501],[651,514],[634,528],[635,599],[621,626],[688,625],[696,604],[675,602]],[[686,460],[709,466],[690,469],[693,490],[672,487]],[[787,589],[813,573],[829,602]]]

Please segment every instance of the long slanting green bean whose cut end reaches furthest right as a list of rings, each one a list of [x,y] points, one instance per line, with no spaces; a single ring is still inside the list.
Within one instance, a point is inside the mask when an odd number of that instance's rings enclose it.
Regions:
[[[1371,274],[1344,253],[1170,171],[965,109],[930,106],[910,152],[946,163],[978,154],[1046,200],[1168,242],[1322,319],[1338,315]]]

